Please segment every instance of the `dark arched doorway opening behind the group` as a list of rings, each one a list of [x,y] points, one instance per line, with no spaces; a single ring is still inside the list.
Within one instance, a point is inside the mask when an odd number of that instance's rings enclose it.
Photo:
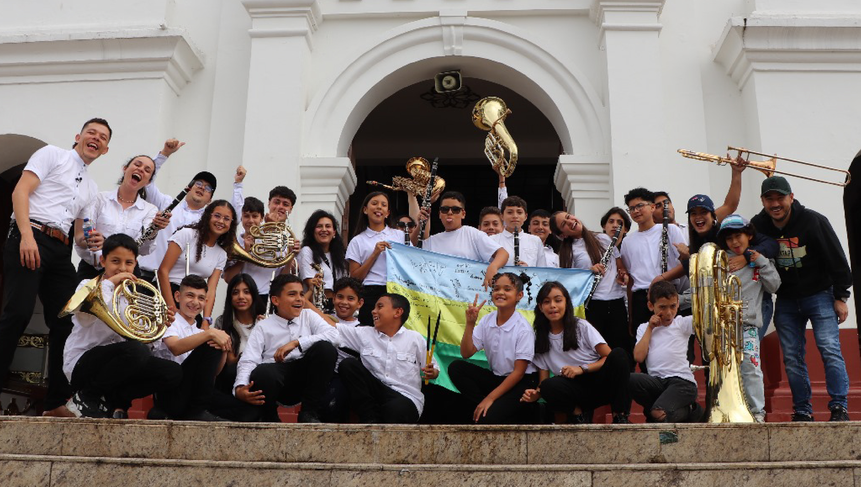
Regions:
[[[479,78],[464,78],[465,92],[457,107],[431,103],[431,79],[411,84],[393,93],[362,122],[352,143],[356,164],[356,190],[350,197],[350,222],[355,223],[362,199],[379,190],[367,181],[391,184],[393,176],[407,176],[406,160],[440,158],[439,175],[447,190],[467,196],[468,225],[478,224],[480,209],[496,206],[498,178],[484,155],[486,132],[472,122],[472,108],[480,97],[505,100],[511,116],[505,126],[517,142],[517,170],[506,181],[510,195],[523,197],[532,209],[561,209],[561,194],[554,186],[554,171],[561,141],[541,110],[526,98],[501,84]],[[393,198],[393,216],[406,214],[406,194]],[[431,232],[442,231],[436,218]]]

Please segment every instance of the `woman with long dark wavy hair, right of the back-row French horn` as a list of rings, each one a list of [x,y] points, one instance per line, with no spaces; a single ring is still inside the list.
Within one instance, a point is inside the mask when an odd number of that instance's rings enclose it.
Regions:
[[[299,277],[305,284],[305,289],[311,289],[319,283],[317,271],[311,266],[319,265],[323,273],[323,289],[328,301],[335,281],[349,274],[347,261],[344,259],[345,253],[344,240],[341,240],[335,216],[323,209],[313,212],[305,223],[302,249],[296,257]],[[327,305],[326,309],[331,307]]]

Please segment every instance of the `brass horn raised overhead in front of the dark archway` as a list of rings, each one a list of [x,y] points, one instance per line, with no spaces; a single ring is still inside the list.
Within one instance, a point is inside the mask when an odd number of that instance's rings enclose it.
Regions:
[[[487,130],[485,139],[485,155],[490,164],[503,178],[508,178],[517,165],[517,144],[505,128],[505,117],[511,110],[505,106],[501,98],[486,97],[475,103],[473,123],[475,127]],[[505,157],[505,152],[508,157]]]

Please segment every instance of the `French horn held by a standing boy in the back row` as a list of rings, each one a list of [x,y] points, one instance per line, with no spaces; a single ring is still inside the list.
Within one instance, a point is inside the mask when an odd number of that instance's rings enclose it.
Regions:
[[[246,251],[244,245],[233,239],[230,259],[275,269],[288,265],[296,256],[293,250],[296,237],[287,222],[264,222],[249,228],[248,233],[254,237],[251,251]]]

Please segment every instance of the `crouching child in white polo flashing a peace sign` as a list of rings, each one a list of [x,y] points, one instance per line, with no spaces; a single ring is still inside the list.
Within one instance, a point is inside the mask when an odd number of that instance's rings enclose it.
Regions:
[[[492,281],[493,304],[497,310],[481,318],[486,303],[479,297],[467,309],[467,326],[461,340],[461,357],[469,359],[480,350],[487,356],[487,370],[466,360],[449,365],[449,378],[463,399],[474,406],[473,421],[482,424],[531,422],[526,415],[531,404],[521,403],[523,391],[538,384],[535,355],[536,334],[530,322],[517,312],[523,297],[523,281],[512,273],[497,274]]]

